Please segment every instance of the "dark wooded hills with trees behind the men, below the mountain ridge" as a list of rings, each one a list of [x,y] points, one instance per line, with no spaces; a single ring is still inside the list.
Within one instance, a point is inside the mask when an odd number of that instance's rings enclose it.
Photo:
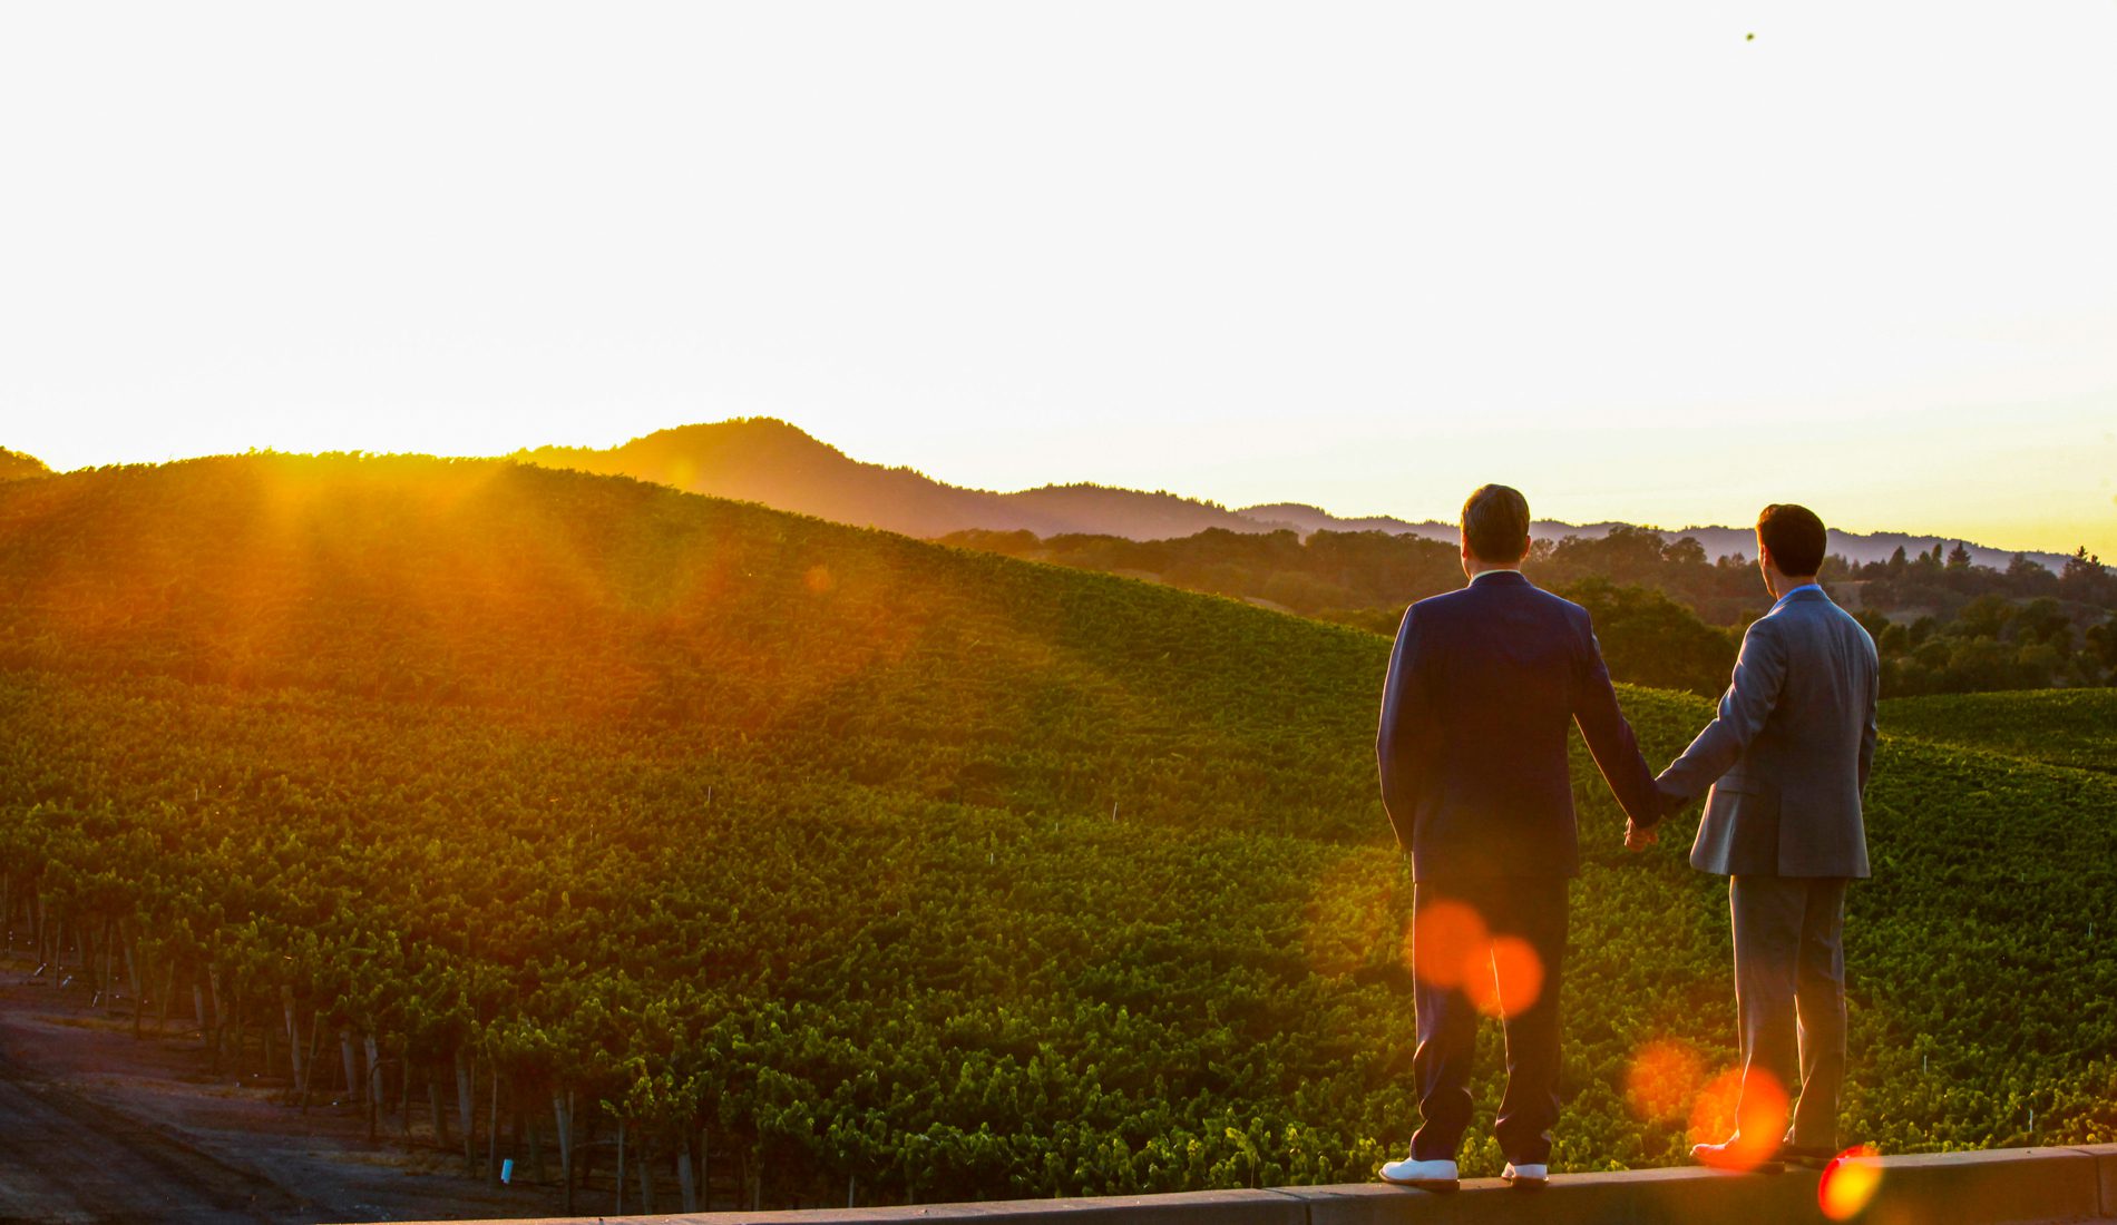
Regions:
[[[1463,584],[1456,548],[1380,531],[1116,535],[959,531],[944,544],[1152,578],[1393,635],[1412,601]],[[1611,675],[1713,696],[1742,630],[1770,603],[1751,559],[1706,559],[1694,537],[1617,525],[1531,546],[1524,571],[1586,605]],[[2117,575],[2083,546],[2060,573],[2015,554],[2005,569],[1935,546],[1888,561],[1825,559],[1819,580],[1876,637],[1884,696],[2109,685],[2117,681]]]

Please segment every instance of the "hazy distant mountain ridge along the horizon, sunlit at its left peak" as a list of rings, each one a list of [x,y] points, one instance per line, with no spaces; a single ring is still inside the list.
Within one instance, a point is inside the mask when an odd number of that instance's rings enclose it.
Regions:
[[[517,451],[508,459],[544,468],[574,468],[608,476],[633,476],[669,484],[688,493],[758,501],[777,510],[813,514],[855,527],[879,527],[902,535],[938,537],[953,531],[1031,531],[1039,537],[1122,535],[1126,540],[1171,540],[1207,529],[1264,533],[1298,531],[1387,531],[1452,542],[1452,523],[1410,523],[1391,516],[1344,518],[1304,504],[1268,504],[1230,510],[1215,501],[1179,497],[1166,491],[1109,489],[1101,484],[1046,484],[1018,493],[963,489],[934,480],[912,468],[885,468],[853,459],[796,425],[773,417],[745,417],[720,423],[677,425],[633,438],[608,451],[591,446],[538,446]],[[1603,537],[1615,523],[1558,523],[1539,518],[1531,525],[1537,540],[1567,535]],[[1706,556],[1749,556],[1755,552],[1755,531],[1747,527],[1655,529],[1664,540],[1694,537]],[[1931,552],[1954,546],[1952,537],[1882,533],[1831,533],[1831,552],[1852,563],[1888,561],[1905,552]],[[2011,550],[1962,542],[1975,565],[2007,569]],[[2064,565],[2056,552],[2028,552],[2030,561],[2049,571]]]

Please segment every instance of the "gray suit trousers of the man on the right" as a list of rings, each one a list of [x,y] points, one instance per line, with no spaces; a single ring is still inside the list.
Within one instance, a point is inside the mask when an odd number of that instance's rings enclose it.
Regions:
[[[1742,1092],[1768,1073],[1787,1098],[1799,1094],[1785,1140],[1835,1149],[1846,1077],[1846,878],[1734,876],[1727,901]]]

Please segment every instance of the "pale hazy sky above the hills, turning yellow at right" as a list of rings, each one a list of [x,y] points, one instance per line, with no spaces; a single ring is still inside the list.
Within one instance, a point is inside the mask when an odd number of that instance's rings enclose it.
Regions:
[[[0,446],[2117,559],[2117,4],[11,4]]]

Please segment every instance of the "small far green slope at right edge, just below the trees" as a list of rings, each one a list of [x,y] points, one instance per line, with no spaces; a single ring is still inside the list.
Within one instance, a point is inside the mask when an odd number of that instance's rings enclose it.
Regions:
[[[1895,698],[1882,719],[1899,736],[1935,745],[2117,772],[2117,690]]]

